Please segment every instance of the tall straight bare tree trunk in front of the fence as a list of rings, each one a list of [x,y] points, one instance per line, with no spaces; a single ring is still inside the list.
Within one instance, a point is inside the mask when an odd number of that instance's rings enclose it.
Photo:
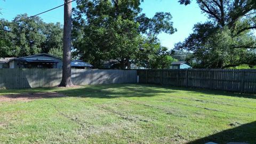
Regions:
[[[71,0],[65,0],[64,5],[64,31],[63,31],[63,66],[60,86],[73,86],[71,81]]]

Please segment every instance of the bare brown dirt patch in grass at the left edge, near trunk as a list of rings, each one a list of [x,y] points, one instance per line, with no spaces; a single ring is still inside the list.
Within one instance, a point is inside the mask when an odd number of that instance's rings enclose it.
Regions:
[[[57,92],[8,94],[8,95],[0,96],[0,102],[31,101],[35,99],[59,98],[59,97],[65,97],[65,95]]]

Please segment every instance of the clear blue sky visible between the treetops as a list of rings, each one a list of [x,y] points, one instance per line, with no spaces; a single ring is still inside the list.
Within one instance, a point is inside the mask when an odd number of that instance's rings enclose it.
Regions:
[[[63,4],[63,0],[0,0],[0,8],[2,15],[0,18],[12,20],[17,14],[28,13],[34,15],[45,10],[49,10],[55,6]],[[73,7],[75,3],[73,2]],[[193,2],[190,5],[180,5],[178,0],[145,0],[141,4],[142,12],[147,17],[153,17],[156,12],[170,12],[172,14],[173,26],[177,28],[177,32],[173,35],[160,34],[163,46],[172,49],[175,43],[183,41],[190,33],[197,22],[204,22],[206,17],[201,13],[198,5]],[[61,22],[63,23],[63,7],[39,15],[45,22]]]

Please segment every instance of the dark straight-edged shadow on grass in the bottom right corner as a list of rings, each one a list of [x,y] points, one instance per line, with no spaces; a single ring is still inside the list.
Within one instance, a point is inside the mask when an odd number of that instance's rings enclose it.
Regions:
[[[228,142],[247,142],[256,143],[256,121],[243,124],[233,129],[215,133],[208,137],[188,142],[187,144],[200,144],[206,142],[228,143]]]

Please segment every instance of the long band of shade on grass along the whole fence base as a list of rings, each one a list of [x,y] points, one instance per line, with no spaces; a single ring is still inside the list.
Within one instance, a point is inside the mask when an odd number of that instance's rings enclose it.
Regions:
[[[37,93],[37,92],[60,92],[67,97],[93,97],[93,98],[127,98],[127,97],[154,97],[161,93],[173,93],[178,91],[188,91],[187,94],[195,93],[204,96],[225,95],[229,97],[241,97],[256,99],[255,94],[239,94],[220,90],[202,90],[189,87],[163,86],[155,84],[104,84],[90,85],[73,88],[36,88],[36,89],[17,89],[17,90],[0,90],[0,95],[20,94],[20,93]],[[198,94],[199,93],[199,94]]]

